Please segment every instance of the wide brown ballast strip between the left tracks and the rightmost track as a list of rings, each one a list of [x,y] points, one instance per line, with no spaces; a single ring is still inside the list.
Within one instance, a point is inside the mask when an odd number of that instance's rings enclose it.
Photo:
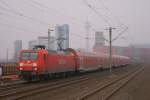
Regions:
[[[135,67],[131,66],[117,68],[112,73],[113,75],[115,75],[113,76],[113,79],[118,78],[120,75],[125,75],[126,72],[131,72],[133,70],[135,71]],[[68,85],[51,91],[41,92],[39,93],[40,95],[31,95],[26,98],[21,98],[21,100],[77,100],[77,98],[86,93],[86,91],[88,91],[89,89],[92,90],[96,86],[96,84],[103,83],[105,80],[107,80],[108,82],[108,80],[110,80],[109,76],[109,71],[103,71],[97,73],[96,75],[92,76],[92,78],[86,81],[78,82],[76,84]]]

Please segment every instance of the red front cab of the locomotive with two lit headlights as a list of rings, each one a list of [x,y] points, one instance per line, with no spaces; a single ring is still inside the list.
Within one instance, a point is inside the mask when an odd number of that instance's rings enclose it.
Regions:
[[[18,66],[20,78],[37,79],[37,74],[44,73],[47,54],[48,51],[44,46],[35,46],[33,50],[22,50]]]

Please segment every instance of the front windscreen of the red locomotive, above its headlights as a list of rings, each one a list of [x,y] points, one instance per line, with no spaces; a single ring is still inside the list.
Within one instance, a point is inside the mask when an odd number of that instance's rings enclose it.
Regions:
[[[21,54],[21,60],[36,60],[38,58],[37,53],[23,52]]]

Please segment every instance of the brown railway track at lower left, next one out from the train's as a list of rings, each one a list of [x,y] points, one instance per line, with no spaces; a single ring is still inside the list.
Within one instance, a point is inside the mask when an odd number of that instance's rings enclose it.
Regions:
[[[5,92],[0,93],[1,100],[16,100],[16,99],[22,99],[27,96],[31,96],[37,93],[46,92],[50,90],[54,90],[57,88],[65,87],[71,84],[76,84],[78,82],[82,82],[85,80],[88,80],[89,77],[87,76],[81,76],[81,77],[75,77],[73,79],[67,79],[65,81],[58,81],[58,82],[52,82],[52,83],[46,83],[46,84],[39,84],[39,85],[32,85],[28,87],[21,87],[8,90]]]

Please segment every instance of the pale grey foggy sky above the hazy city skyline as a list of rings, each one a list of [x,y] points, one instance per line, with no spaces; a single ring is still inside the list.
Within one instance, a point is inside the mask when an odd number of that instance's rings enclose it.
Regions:
[[[38,3],[32,2],[36,1]],[[149,0],[87,0],[112,27],[113,38],[126,26],[128,30],[113,45],[127,46],[135,43],[150,43]],[[29,40],[46,36],[47,29],[56,24],[70,25],[70,47],[85,48],[85,22],[91,23],[90,48],[94,43],[94,30],[103,30],[109,25],[98,17],[84,0],[0,0],[0,59],[13,55],[14,40],[23,40],[27,48]],[[54,35],[54,32],[52,33]]]

